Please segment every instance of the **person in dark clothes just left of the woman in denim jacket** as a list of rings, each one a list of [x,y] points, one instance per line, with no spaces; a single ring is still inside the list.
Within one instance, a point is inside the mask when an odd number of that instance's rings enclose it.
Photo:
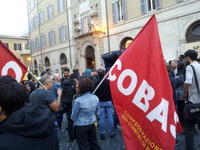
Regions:
[[[62,84],[62,109],[64,112],[66,112],[66,118],[68,121],[68,135],[69,135],[69,141],[70,145],[72,144],[74,140],[74,134],[73,134],[73,121],[71,119],[71,113],[72,113],[72,100],[74,95],[76,94],[76,78],[75,75],[72,73],[68,79],[65,79]]]

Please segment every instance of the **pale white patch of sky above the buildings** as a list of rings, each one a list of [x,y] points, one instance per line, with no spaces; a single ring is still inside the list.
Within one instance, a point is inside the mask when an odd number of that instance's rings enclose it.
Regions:
[[[0,0],[0,35],[28,34],[26,0]]]

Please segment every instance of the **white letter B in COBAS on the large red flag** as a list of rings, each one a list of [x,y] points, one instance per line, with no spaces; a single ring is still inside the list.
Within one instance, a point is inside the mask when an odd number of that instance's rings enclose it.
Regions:
[[[154,89],[147,81],[143,80],[132,102],[144,112],[147,112],[149,109],[149,101],[153,99],[154,95]],[[144,99],[144,103],[141,102],[142,99]]]

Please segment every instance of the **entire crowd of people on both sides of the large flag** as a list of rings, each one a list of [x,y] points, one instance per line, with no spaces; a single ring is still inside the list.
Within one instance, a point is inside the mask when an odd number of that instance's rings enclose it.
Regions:
[[[186,101],[200,103],[200,91],[192,70],[193,66],[200,86],[197,56],[195,50],[188,50],[179,60],[167,63],[174,103],[185,128],[187,150],[194,150],[194,126],[198,127],[198,119],[185,121],[183,113]],[[119,123],[109,80],[105,79],[92,93],[105,74],[103,69],[86,69],[81,76],[78,69],[70,74],[66,67],[62,78],[57,73],[50,76],[43,71],[39,83],[31,74],[22,84],[9,76],[0,77],[0,150],[16,147],[20,150],[58,150],[63,114],[67,118],[71,144],[76,139],[80,150],[100,150],[97,136],[101,140],[107,136],[113,138],[114,128]]]

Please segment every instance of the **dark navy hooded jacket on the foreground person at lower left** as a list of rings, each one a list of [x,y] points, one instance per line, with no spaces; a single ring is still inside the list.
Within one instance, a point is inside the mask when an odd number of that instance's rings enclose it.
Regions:
[[[0,122],[0,150],[58,150],[53,113],[28,104]]]

